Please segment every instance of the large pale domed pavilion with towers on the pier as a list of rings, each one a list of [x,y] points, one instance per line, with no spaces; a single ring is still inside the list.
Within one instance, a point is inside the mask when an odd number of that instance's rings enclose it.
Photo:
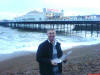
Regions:
[[[24,16],[16,17],[15,21],[46,21],[46,20],[62,20],[64,16],[63,10],[43,9],[40,11],[30,11]]]

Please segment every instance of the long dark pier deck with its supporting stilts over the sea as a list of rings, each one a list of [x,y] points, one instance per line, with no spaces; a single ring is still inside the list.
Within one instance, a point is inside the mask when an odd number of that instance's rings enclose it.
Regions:
[[[100,35],[100,21],[33,21],[33,22],[0,22],[1,26],[29,29],[37,31],[46,31],[47,29],[56,29],[57,32],[64,34],[78,34],[84,33],[86,37],[88,33],[90,36],[99,37]],[[83,34],[82,34],[83,35]]]

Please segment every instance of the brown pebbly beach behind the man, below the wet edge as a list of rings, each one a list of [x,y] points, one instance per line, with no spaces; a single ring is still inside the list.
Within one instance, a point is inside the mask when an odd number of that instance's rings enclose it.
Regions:
[[[77,46],[69,50],[72,50],[72,54],[67,63],[63,63],[63,75],[100,73],[100,44]],[[30,53],[0,62],[0,75],[39,75],[35,56],[35,53]]]

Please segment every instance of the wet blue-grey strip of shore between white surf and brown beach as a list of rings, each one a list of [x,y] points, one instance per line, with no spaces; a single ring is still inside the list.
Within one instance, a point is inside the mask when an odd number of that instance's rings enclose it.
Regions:
[[[70,47],[68,49],[65,49],[63,50],[63,53],[65,54],[66,52],[68,52],[69,50],[72,50],[74,53],[75,53],[75,50],[79,50],[80,48],[90,48],[90,47],[94,47],[94,46],[98,46],[100,45],[100,43],[97,43],[97,44],[91,44],[91,45],[78,45],[78,46],[73,46],[73,47]],[[95,49],[96,50],[96,49]],[[98,50],[98,49],[97,49]],[[80,51],[80,50],[79,50]],[[9,59],[12,59],[12,58],[16,58],[16,57],[20,57],[20,56],[26,56],[26,55],[30,55],[30,54],[36,54],[36,51],[16,51],[16,52],[13,52],[13,53],[7,53],[7,54],[0,54],[0,62],[2,61],[6,61],[6,60],[9,60]],[[3,58],[2,58],[3,57]]]

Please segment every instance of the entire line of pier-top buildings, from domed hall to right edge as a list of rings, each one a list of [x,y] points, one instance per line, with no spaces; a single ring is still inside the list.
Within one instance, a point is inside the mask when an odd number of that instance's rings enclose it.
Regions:
[[[83,21],[83,20],[99,20],[100,15],[78,15],[78,16],[64,16],[64,10],[43,8],[43,10],[30,11],[27,14],[16,17],[14,21]]]

